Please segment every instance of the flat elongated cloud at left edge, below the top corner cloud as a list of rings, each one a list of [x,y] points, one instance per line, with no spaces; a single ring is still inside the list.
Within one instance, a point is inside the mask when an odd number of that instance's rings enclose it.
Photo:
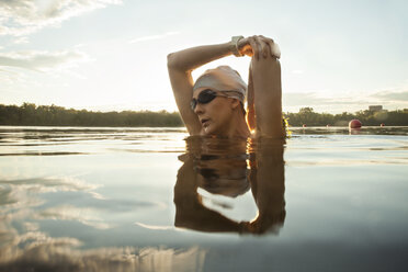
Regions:
[[[71,67],[77,63],[88,60],[88,56],[79,50],[59,52],[9,52],[0,53],[0,67],[19,67],[30,70],[47,71]]]

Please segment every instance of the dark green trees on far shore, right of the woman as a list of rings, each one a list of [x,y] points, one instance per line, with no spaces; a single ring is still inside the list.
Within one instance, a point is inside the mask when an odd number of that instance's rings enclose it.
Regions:
[[[348,126],[353,118],[360,120],[364,126],[407,126],[408,111],[359,111],[355,114],[343,112],[341,114],[316,113],[311,107],[302,107],[298,113],[285,113],[284,116],[291,126]]]

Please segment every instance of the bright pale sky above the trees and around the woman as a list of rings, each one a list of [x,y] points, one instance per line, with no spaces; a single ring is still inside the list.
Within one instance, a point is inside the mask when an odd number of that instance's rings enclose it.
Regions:
[[[264,35],[283,111],[408,109],[405,0],[0,0],[0,104],[177,111],[167,55]],[[226,57],[248,78],[250,58]]]

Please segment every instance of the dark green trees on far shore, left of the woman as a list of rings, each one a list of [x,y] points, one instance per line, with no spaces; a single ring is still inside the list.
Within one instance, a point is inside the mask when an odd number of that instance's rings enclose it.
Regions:
[[[89,112],[56,105],[0,104],[0,125],[20,126],[183,126],[177,112]]]

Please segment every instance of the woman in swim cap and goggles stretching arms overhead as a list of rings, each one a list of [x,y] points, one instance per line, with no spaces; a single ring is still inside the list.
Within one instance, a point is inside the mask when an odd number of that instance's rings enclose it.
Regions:
[[[251,57],[248,88],[228,66],[207,70],[193,82],[195,68],[233,54]],[[190,135],[248,138],[253,131],[256,136],[283,138],[279,57],[277,46],[264,36],[235,36],[229,43],[169,54],[171,87]]]

